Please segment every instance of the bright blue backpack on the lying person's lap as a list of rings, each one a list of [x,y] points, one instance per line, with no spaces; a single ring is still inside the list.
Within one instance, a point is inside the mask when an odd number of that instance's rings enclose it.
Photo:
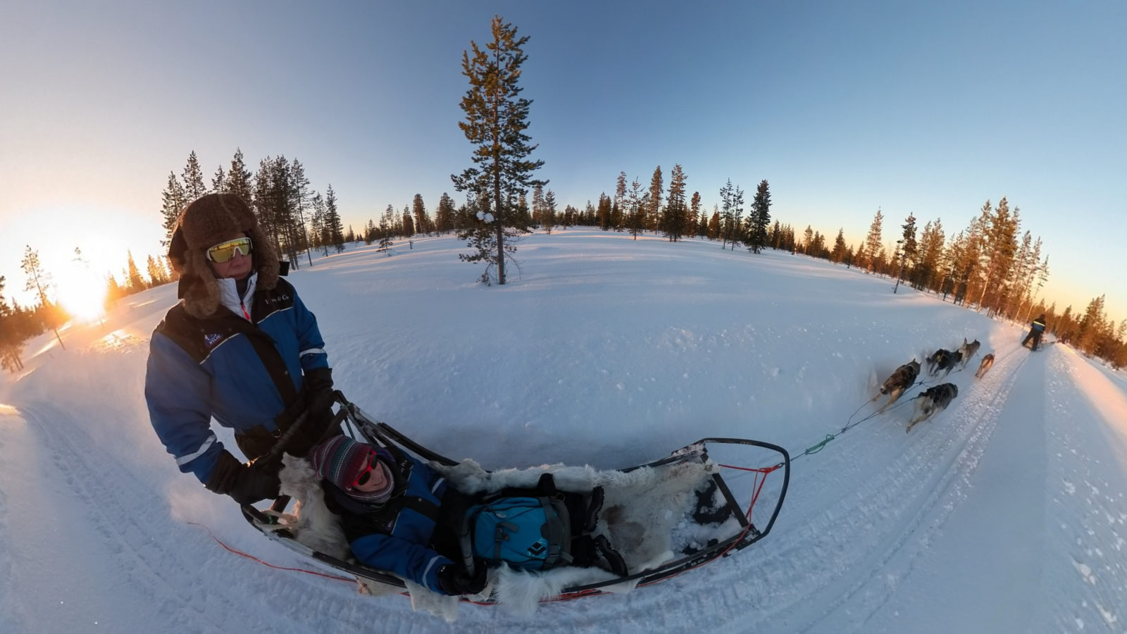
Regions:
[[[494,564],[548,570],[571,563],[571,523],[556,497],[500,497],[470,507],[464,535],[473,555]]]

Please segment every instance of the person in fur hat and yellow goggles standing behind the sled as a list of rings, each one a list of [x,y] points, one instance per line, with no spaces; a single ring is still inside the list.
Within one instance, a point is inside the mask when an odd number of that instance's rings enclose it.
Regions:
[[[283,451],[339,433],[317,318],[279,278],[273,241],[234,194],[206,194],[177,219],[168,250],[180,302],[153,331],[145,400],[181,472],[249,504],[278,495]],[[242,464],[211,430],[234,430]]]

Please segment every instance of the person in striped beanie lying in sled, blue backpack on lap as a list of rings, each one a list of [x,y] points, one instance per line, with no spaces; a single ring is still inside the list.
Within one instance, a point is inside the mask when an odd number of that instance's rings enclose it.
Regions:
[[[602,487],[587,495],[564,493],[545,474],[534,490],[471,495],[454,488],[425,461],[394,447],[372,447],[344,435],[316,446],[309,459],[323,481],[326,505],[341,518],[356,560],[436,592],[477,595],[486,587],[487,566],[502,563],[531,570],[602,563],[619,575],[627,574],[622,557],[606,537],[591,535],[602,509]],[[525,537],[536,534],[533,543],[525,547],[520,535],[506,537],[504,547],[492,541],[500,529],[490,521],[502,523],[496,516],[506,517],[496,509],[513,513],[508,518],[512,526],[518,513],[527,511],[531,518],[538,511],[538,500],[557,503],[540,512],[534,529],[526,527]],[[554,511],[558,516],[549,521]],[[564,526],[557,526],[560,522]],[[558,535],[549,538],[542,532]],[[468,537],[471,534],[473,537]],[[508,548],[517,544],[534,555]],[[467,548],[474,565],[462,563]],[[553,549],[560,560],[545,558]]]

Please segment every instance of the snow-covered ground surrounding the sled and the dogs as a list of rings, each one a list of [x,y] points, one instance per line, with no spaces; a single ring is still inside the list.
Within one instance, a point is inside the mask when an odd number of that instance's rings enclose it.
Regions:
[[[213,536],[319,570],[180,474],[149,426],[167,285],[69,328],[65,351],[34,340],[0,378],[0,632],[1127,632],[1127,375],[787,253],[557,230],[483,288],[453,237],[400,245],[290,278],[352,400],[487,468],[774,442],[798,457],[772,532],[627,595],[531,617],[463,605],[454,624],[233,554]],[[904,405],[802,455],[897,366],[964,337],[983,347],[946,412],[905,433]]]

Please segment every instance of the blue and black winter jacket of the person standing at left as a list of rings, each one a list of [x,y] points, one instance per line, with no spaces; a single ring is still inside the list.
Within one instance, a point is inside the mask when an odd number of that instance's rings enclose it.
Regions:
[[[153,331],[145,375],[149,416],[181,472],[206,483],[223,444],[211,419],[247,433],[274,420],[302,388],[302,372],[327,368],[317,319],[293,285],[254,291],[248,322],[224,307],[199,319],[177,305]],[[251,457],[252,458],[252,457]]]

